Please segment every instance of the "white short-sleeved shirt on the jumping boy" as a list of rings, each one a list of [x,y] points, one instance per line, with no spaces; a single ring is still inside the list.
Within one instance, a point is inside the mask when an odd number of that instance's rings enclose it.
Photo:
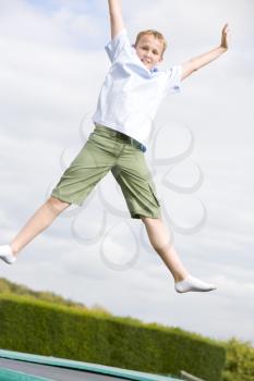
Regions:
[[[120,131],[147,145],[153,120],[161,100],[180,91],[182,66],[147,69],[122,29],[106,46],[111,61],[102,84],[95,124]]]

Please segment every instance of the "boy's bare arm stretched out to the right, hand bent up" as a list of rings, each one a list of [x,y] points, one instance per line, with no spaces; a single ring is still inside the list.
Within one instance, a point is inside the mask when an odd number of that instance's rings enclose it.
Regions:
[[[209,63],[210,61],[214,61],[215,59],[219,58],[222,53],[225,53],[228,50],[228,33],[229,33],[228,24],[225,24],[222,32],[221,32],[220,46],[208,51],[207,53],[195,57],[195,58],[191,59],[190,61],[182,63],[181,81],[186,78],[193,72],[197,71],[199,67],[202,67],[202,66],[206,65],[207,63]]]

